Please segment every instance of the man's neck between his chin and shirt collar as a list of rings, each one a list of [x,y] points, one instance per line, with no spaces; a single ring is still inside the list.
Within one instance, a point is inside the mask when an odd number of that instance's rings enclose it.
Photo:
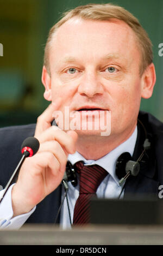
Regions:
[[[110,134],[109,136],[79,136],[77,142],[77,151],[82,154],[86,160],[97,160],[102,158],[124,141],[130,138],[135,130],[135,126],[123,134]],[[93,150],[92,150],[93,148]]]

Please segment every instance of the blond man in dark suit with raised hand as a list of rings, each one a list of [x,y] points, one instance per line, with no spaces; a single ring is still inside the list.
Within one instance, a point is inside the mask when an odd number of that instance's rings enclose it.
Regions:
[[[45,48],[42,83],[44,97],[52,104],[38,118],[36,129],[29,125],[1,130],[2,186],[18,162],[20,155],[15,154],[23,139],[34,135],[40,141],[39,152],[25,160],[17,182],[2,201],[1,227],[19,228],[26,221],[54,222],[64,194],[60,183],[67,159],[72,165],[83,160],[105,169],[108,175],[97,188],[98,197],[158,194],[163,126],[152,115],[139,113],[141,97],[152,96],[155,79],[151,41],[128,11],[112,4],[89,4],[68,12],[51,29]],[[59,121],[58,127],[52,126],[55,111],[63,114],[63,129]],[[111,125],[109,135],[102,136],[101,127],[83,129],[89,122],[96,126],[99,112],[106,126]],[[83,123],[76,130],[67,128],[66,120],[70,124],[76,113]],[[145,167],[141,166],[136,177],[130,175],[122,189],[115,172],[117,159],[129,152],[136,161],[144,152],[145,139],[151,143]],[[73,219],[80,177],[77,187],[68,184],[71,214],[65,200],[58,220],[63,227],[70,227]]]

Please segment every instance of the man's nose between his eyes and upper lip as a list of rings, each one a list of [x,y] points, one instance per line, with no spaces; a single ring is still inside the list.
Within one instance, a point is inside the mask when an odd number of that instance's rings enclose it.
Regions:
[[[97,74],[93,72],[85,72],[78,86],[78,92],[82,96],[87,96],[89,98],[102,94],[103,85],[99,82]]]

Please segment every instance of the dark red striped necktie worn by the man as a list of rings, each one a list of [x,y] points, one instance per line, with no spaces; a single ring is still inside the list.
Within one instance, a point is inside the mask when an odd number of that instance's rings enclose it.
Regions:
[[[73,224],[82,225],[90,222],[90,199],[96,195],[99,184],[108,172],[97,164],[86,166],[82,161],[77,162],[74,168],[80,175],[80,189],[74,207]]]

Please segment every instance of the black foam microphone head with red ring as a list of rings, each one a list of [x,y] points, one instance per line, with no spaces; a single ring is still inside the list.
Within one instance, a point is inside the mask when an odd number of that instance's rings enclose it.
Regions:
[[[21,151],[27,153],[26,157],[32,157],[39,150],[40,142],[35,137],[28,137],[21,146]]]

